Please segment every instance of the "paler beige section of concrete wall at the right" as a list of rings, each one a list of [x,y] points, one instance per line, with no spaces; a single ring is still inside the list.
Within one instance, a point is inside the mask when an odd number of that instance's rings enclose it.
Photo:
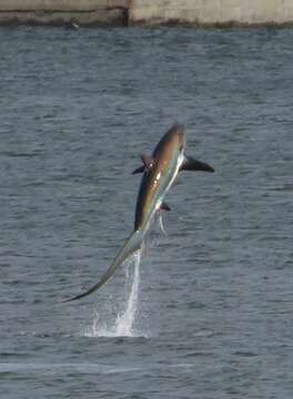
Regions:
[[[133,0],[130,22],[283,24],[293,21],[293,0]]]

